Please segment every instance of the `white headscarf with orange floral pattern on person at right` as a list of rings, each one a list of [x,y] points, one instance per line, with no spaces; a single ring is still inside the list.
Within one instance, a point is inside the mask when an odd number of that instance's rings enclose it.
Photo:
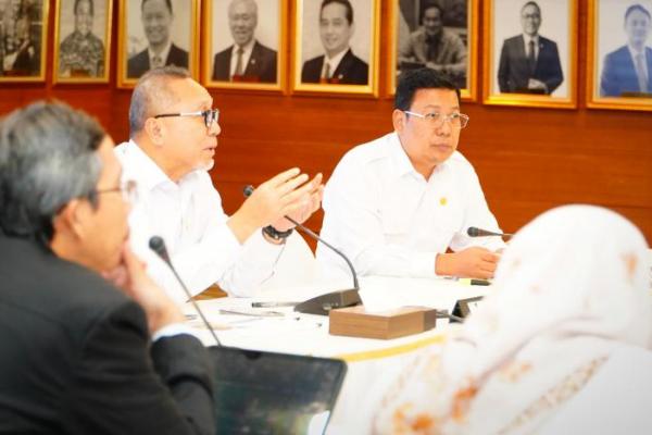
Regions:
[[[388,391],[375,432],[536,432],[615,349],[652,347],[645,258],[612,211],[543,213],[512,239],[480,308]]]

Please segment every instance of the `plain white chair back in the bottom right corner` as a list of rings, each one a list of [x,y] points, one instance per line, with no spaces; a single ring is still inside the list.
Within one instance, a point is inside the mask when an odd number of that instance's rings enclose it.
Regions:
[[[616,349],[538,434],[652,433],[652,351]]]

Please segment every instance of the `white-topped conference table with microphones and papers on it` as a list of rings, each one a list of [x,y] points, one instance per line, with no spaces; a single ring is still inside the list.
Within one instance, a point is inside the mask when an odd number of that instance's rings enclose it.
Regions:
[[[441,344],[442,334],[448,327],[447,320],[438,319],[434,330],[394,339],[344,337],[328,333],[327,316],[297,313],[291,307],[251,306],[253,301],[305,300],[318,294],[348,288],[346,284],[283,286],[267,289],[255,298],[226,297],[198,302],[225,346],[338,358],[347,362],[347,376],[327,434],[368,433],[374,412],[401,370],[421,352]],[[360,287],[363,300],[369,302],[396,298],[403,306],[446,309],[449,312],[452,312],[456,300],[484,296],[491,290],[490,286],[475,286],[453,279],[379,276],[361,278]],[[195,318],[191,304],[188,303],[184,310]],[[199,319],[189,320],[188,324],[206,346],[215,344]]]

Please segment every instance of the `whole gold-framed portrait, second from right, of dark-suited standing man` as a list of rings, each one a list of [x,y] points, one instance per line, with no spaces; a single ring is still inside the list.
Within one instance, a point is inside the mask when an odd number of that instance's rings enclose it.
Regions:
[[[485,3],[486,104],[577,107],[577,0]]]

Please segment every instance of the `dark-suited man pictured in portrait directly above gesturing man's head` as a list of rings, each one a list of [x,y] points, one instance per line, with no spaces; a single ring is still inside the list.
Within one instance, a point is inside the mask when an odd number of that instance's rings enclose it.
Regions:
[[[174,21],[171,0],[142,0],[140,18],[148,47],[129,58],[127,77],[138,78],[149,70],[165,65],[188,67],[188,51],[173,44]]]

